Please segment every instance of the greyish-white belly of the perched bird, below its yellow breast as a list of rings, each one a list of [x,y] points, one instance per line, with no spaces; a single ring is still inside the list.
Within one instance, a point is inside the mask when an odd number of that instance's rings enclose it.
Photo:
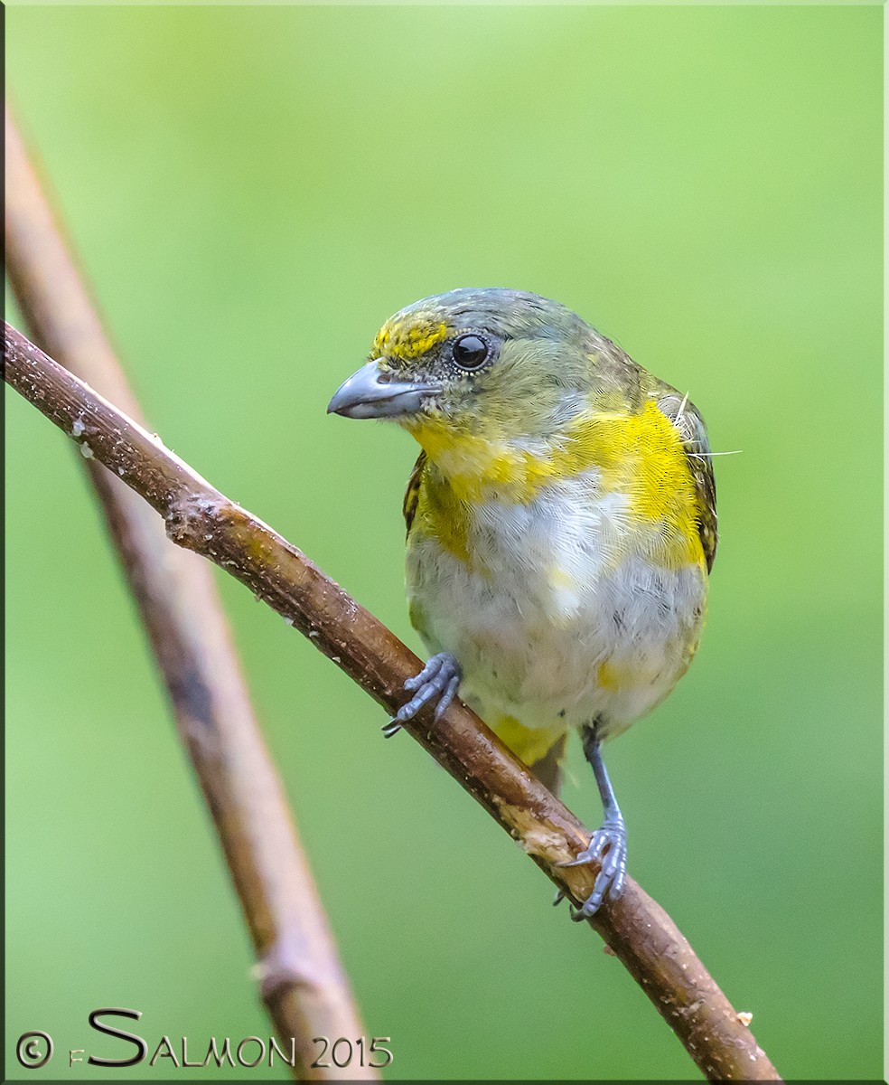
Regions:
[[[430,651],[456,656],[461,697],[491,726],[512,716],[554,735],[593,722],[616,733],[669,693],[694,653],[703,570],[649,561],[626,499],[579,499],[582,484],[480,507],[473,567],[412,533],[412,615]]]

